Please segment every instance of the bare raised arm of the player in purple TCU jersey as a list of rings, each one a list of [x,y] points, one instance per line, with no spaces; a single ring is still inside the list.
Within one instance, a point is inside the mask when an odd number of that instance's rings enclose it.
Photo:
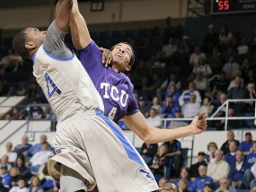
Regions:
[[[79,12],[77,0],[74,0],[73,3],[70,28],[73,44],[76,49],[86,48],[91,43],[90,33],[83,15]]]

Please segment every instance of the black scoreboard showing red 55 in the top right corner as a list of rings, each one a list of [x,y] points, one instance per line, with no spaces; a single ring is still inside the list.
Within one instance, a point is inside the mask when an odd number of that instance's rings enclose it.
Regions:
[[[211,0],[211,14],[256,12],[256,0]]]

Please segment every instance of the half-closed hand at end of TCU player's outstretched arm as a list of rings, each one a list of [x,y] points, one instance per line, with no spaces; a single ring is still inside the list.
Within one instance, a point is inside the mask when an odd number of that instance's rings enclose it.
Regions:
[[[190,127],[193,135],[204,132],[207,129],[207,115],[203,113],[193,118]]]

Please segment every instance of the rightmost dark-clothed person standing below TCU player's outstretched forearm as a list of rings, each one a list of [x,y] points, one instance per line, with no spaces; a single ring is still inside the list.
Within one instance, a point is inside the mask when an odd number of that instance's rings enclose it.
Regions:
[[[171,177],[177,178],[181,169],[181,142],[175,139],[170,142],[164,142],[163,145],[167,146],[168,149],[164,155],[165,165],[171,168]]]

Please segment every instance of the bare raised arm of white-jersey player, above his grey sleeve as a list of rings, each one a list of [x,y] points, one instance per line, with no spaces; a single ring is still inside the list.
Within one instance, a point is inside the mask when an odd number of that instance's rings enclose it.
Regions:
[[[58,0],[55,12],[55,22],[60,31],[66,32],[69,27],[73,0]]]

